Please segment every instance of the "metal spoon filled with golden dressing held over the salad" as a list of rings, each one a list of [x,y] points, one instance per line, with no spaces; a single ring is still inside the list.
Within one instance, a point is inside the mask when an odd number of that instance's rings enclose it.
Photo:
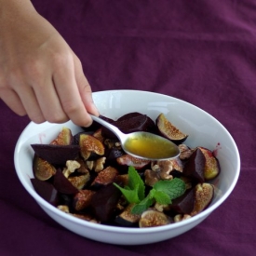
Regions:
[[[145,131],[126,134],[98,116],[91,115],[91,118],[113,131],[128,155],[145,160],[168,160],[180,155],[178,146],[161,136]]]

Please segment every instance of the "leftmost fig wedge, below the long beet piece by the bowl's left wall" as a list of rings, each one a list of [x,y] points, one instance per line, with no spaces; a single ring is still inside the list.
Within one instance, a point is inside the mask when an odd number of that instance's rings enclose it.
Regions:
[[[56,173],[56,168],[49,164],[47,160],[40,158],[38,155],[34,155],[33,172],[36,179],[47,181]]]

